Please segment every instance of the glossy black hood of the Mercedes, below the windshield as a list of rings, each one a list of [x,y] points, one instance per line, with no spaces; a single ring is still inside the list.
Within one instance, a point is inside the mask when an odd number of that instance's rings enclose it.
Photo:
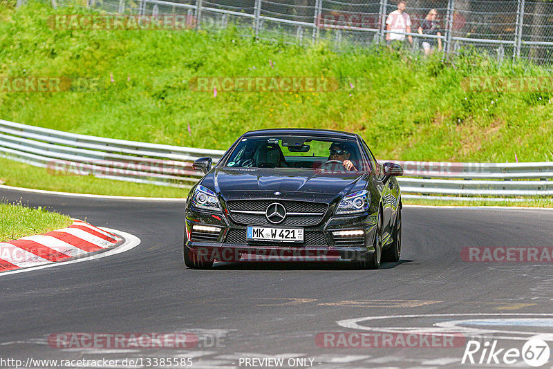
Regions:
[[[215,168],[204,179],[225,198],[248,198],[281,192],[297,198],[335,198],[348,193],[357,184],[364,187],[368,173],[362,171],[331,172],[319,169]],[[211,186],[209,186],[211,187]],[[326,196],[321,196],[326,195]]]

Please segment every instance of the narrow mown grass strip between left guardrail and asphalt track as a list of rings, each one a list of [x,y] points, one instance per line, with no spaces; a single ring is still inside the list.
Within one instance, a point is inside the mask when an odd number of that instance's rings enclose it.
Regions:
[[[44,168],[0,158],[0,183],[15,187],[110,196],[185,198],[188,189],[105,180],[94,176],[52,175]]]

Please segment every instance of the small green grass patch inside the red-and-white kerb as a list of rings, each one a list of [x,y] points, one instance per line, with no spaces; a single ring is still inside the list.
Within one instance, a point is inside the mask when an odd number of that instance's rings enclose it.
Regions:
[[[54,229],[71,225],[68,216],[50,212],[45,208],[24,207],[19,204],[0,202],[0,242],[45,234]]]

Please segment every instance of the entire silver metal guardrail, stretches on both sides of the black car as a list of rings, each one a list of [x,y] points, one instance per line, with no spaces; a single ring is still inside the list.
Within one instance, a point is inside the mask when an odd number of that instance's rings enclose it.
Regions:
[[[191,162],[225,151],[99,138],[0,120],[0,157],[46,168],[174,187],[190,187],[202,173]],[[396,162],[407,196],[553,196],[553,162]],[[384,161],[383,161],[384,162]]]

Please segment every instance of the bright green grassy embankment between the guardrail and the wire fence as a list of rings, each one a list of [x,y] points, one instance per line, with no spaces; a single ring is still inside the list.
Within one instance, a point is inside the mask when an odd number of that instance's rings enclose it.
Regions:
[[[0,10],[0,68],[10,76],[99,78],[99,91],[0,91],[2,119],[209,149],[226,149],[250,129],[313,127],[357,132],[378,158],[553,160],[550,93],[466,92],[461,86],[465,77],[475,75],[548,75],[536,66],[508,61],[498,66],[481,53],[448,61],[385,48],[335,53],[325,42],[310,48],[270,44],[239,37],[232,27],[196,32],[53,30],[48,25],[50,15],[75,12],[86,10],[52,10],[36,3],[17,12]],[[215,96],[191,90],[189,80],[198,76],[324,76],[341,85],[332,92]],[[0,178],[28,186],[19,171],[13,172],[0,169]],[[66,186],[62,178],[46,182],[52,188]],[[95,191],[93,186],[87,191]],[[151,188],[143,187],[142,194],[149,195]],[[79,185],[73,189],[80,191]],[[175,196],[171,189],[158,191]]]

